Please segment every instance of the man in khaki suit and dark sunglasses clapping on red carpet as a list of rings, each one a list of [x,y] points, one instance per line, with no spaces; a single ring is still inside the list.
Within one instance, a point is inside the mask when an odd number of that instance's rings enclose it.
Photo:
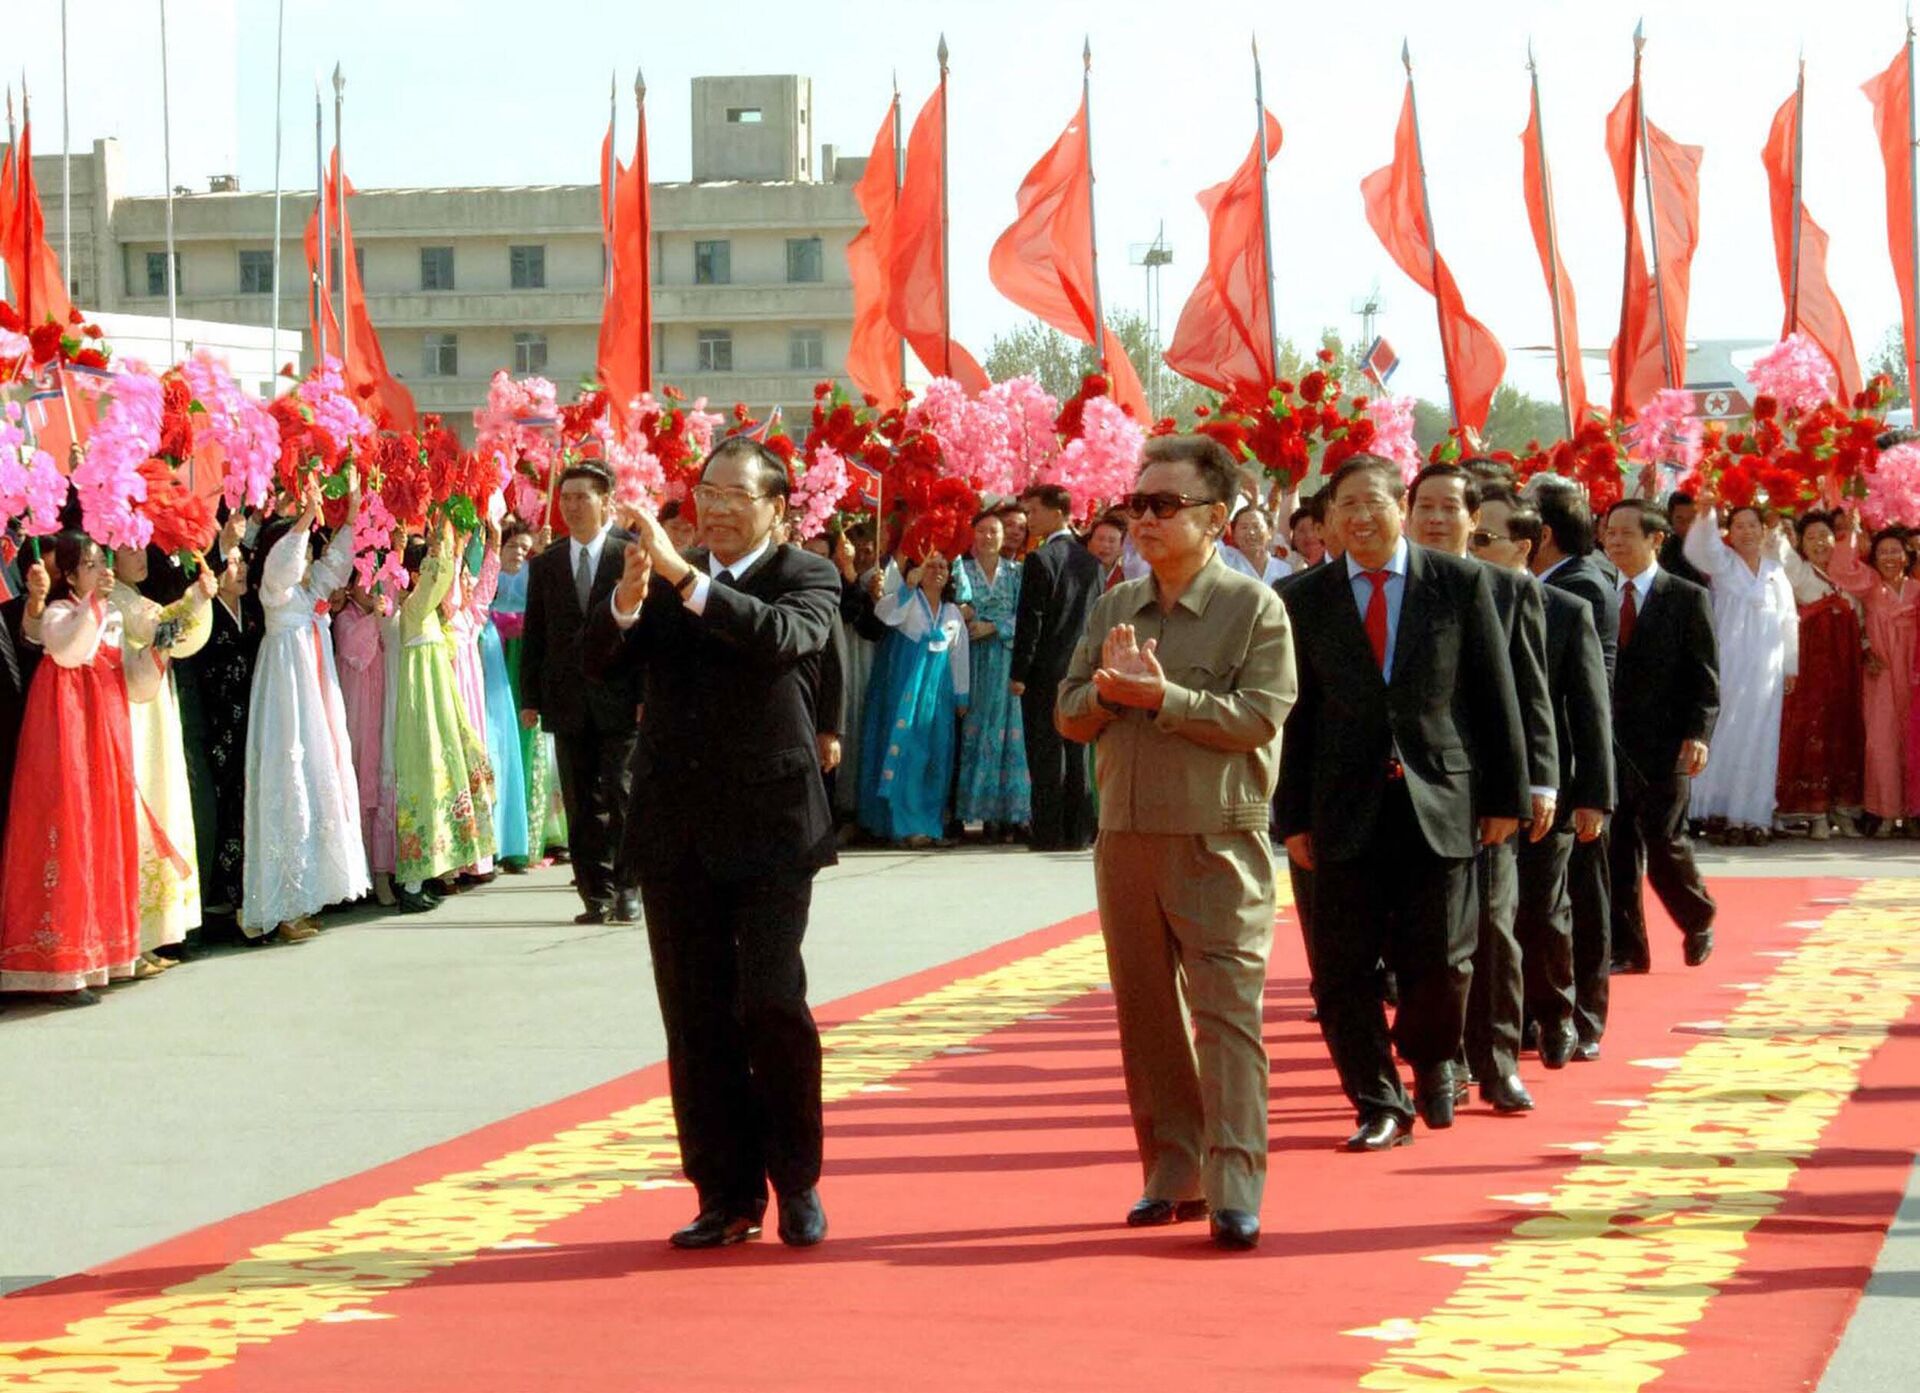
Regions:
[[[1098,762],[1100,933],[1146,1172],[1127,1222],[1212,1215],[1213,1241],[1246,1249],[1267,1174],[1267,804],[1292,635],[1273,589],[1219,558],[1238,472],[1217,441],[1150,439],[1133,487],[1152,572],[1094,604],[1054,712]]]

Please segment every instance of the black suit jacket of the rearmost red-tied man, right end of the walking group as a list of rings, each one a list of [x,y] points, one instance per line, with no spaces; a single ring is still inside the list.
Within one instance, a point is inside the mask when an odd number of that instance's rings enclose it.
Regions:
[[[1653,572],[1613,675],[1613,752],[1622,792],[1668,779],[1684,741],[1711,741],[1720,716],[1720,647],[1699,585]]]

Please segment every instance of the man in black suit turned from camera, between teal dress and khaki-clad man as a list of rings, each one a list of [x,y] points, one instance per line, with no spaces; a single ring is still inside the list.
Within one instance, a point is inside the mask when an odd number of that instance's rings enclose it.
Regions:
[[[1092,842],[1087,750],[1054,729],[1054,698],[1100,599],[1100,562],[1068,530],[1073,497],[1064,487],[1039,484],[1020,505],[1031,535],[1043,539],[1021,566],[1008,670],[1027,735],[1033,850],[1077,852]]]

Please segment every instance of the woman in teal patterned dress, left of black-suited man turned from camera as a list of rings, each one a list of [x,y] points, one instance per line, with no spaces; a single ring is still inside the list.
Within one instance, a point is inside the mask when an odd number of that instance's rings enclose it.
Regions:
[[[972,700],[960,727],[954,815],[962,823],[983,823],[989,842],[1016,840],[1033,817],[1027,737],[1020,723],[1020,698],[1008,685],[1014,616],[1020,612],[1020,562],[1006,560],[1002,545],[1006,528],[1000,516],[981,512],[973,518],[973,555],[960,558],[956,578],[960,604],[972,606]]]

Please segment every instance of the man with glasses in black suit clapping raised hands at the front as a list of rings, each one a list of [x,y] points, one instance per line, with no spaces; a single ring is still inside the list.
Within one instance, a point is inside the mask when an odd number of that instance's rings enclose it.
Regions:
[[[833,562],[774,541],[787,470],[733,437],[707,459],[710,551],[682,556],[632,516],[612,599],[588,624],[589,672],[643,695],[626,862],[639,875],[680,1155],[699,1216],[676,1247],[760,1234],[826,1238],[820,1207],[820,1032],[801,940],[814,873],[835,856],[816,750],[818,664],[839,622]]]

